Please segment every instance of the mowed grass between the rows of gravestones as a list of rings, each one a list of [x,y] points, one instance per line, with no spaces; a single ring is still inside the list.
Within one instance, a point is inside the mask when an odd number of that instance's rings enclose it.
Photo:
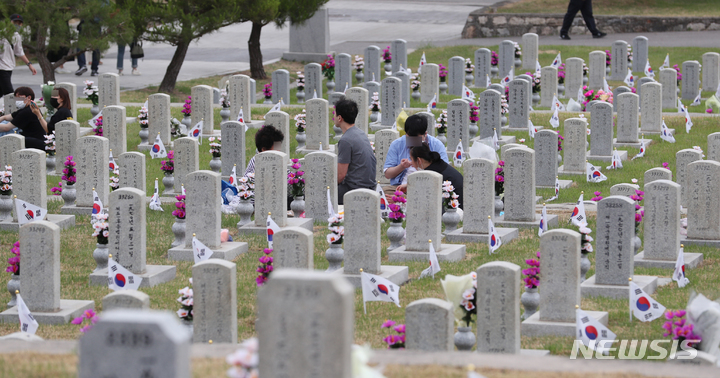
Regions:
[[[446,60],[453,55],[470,56],[472,51],[477,47],[449,47],[442,49],[426,49],[428,60],[430,62],[440,62]],[[552,47],[550,47],[552,48]],[[686,50],[684,55],[680,54],[681,50]],[[568,58],[570,56],[587,56],[587,53],[591,51],[591,48],[574,48],[572,51],[564,50],[563,56]],[[704,52],[704,51],[703,51]],[[421,50],[418,50],[411,54],[410,61],[419,61],[419,56],[422,54]],[[541,64],[549,64],[549,60],[557,54],[554,50],[546,50],[540,55]],[[651,49],[651,58],[657,59],[657,64],[660,63],[662,58],[659,58],[664,53]],[[699,59],[701,51],[698,49],[679,49],[674,53],[671,53],[671,59],[673,63],[679,63],[675,61],[673,57],[681,57],[684,59]],[[447,97],[445,98],[447,99]],[[444,100],[441,98],[441,100]],[[441,106],[444,104],[441,104]],[[260,119],[262,115],[267,112],[267,107],[259,107],[253,109],[253,118]],[[301,111],[300,107],[285,108],[290,116],[297,114]],[[435,109],[434,113],[437,116],[440,113],[440,109]],[[137,114],[137,107],[129,107],[127,109],[128,115]],[[181,118],[180,108],[172,109],[173,116]],[[561,126],[556,129],[560,134],[564,133],[563,122],[567,118],[577,117],[578,113],[561,113]],[[586,117],[590,117],[589,114],[585,114]],[[549,114],[533,114],[531,116],[533,123],[538,126],[549,126]],[[90,119],[89,109],[80,109],[79,122],[85,123]],[[592,197],[592,193],[600,191],[602,195],[609,195],[610,187],[618,183],[629,183],[631,179],[636,178],[639,181],[640,186],[643,186],[643,175],[644,172],[650,168],[659,167],[663,162],[670,164],[670,169],[675,171],[675,153],[678,150],[684,148],[692,148],[693,146],[701,146],[706,149],[706,136],[709,133],[718,131],[718,118],[717,117],[695,117],[695,126],[690,134],[684,132],[684,119],[677,116],[666,117],[666,122],[670,128],[677,130],[676,139],[677,143],[669,144],[661,141],[657,136],[646,135],[646,138],[652,139],[652,144],[648,147],[646,156],[634,161],[625,162],[625,167],[619,171],[606,171],[604,173],[608,176],[608,180],[602,183],[590,184],[586,183],[584,178],[578,176],[561,176],[563,179],[575,180],[575,183],[571,188],[561,190],[560,198],[554,203],[574,203],[577,201],[581,191],[585,192],[585,199],[588,200]],[[220,126],[219,109],[215,111],[215,129],[219,129]],[[292,125],[292,123],[291,123]],[[333,134],[330,124],[328,125],[331,135]],[[128,151],[135,151],[136,146],[140,142],[137,136],[139,126],[137,123],[128,125]],[[254,146],[254,129],[250,129],[246,134],[246,155],[247,160],[255,153]],[[289,135],[291,142],[291,150],[294,151],[296,147],[295,142],[295,129],[291,126],[291,132]],[[525,138],[525,144],[533,147],[533,141],[527,136],[527,133],[507,133],[507,135],[514,135],[518,139]],[[211,158],[208,152],[209,146],[207,141],[204,141],[200,146],[200,168],[209,169],[209,161]],[[638,151],[636,149],[628,149],[629,158],[632,158]],[[148,195],[152,193],[153,180],[155,177],[161,178],[160,160],[161,159],[150,159],[147,152],[147,191]],[[292,157],[300,157],[299,155],[292,153]],[[595,165],[606,166],[607,163],[593,162]],[[238,164],[240,165],[240,164]],[[53,176],[48,177],[48,190],[54,184],[59,181],[59,177]],[[162,185],[162,184],[161,184]],[[162,187],[161,187],[162,189]],[[552,196],[552,190],[550,189],[537,189],[537,194],[543,196],[543,198],[549,198]],[[51,213],[58,213],[60,210],[61,203],[56,201],[49,202],[49,210]],[[170,248],[170,244],[173,240],[173,234],[171,232],[171,226],[174,222],[174,217],[171,212],[174,208],[173,204],[167,204],[163,206],[164,212],[155,212],[148,210],[147,212],[147,263],[154,265],[168,265],[174,264],[177,266],[177,277],[168,283],[159,285],[154,288],[142,289],[141,291],[147,293],[151,298],[151,308],[176,311],[179,308],[179,303],[176,301],[178,298],[178,290],[189,286],[188,279],[191,277],[191,266],[190,262],[171,262],[167,260],[167,250]],[[569,226],[569,212],[560,213],[560,227],[575,229],[575,227]],[[595,215],[589,215],[589,226],[595,229]],[[249,251],[239,256],[234,262],[237,264],[237,293],[238,293],[238,337],[239,339],[245,339],[248,337],[255,336],[255,319],[257,317],[257,310],[255,307],[256,303],[256,285],[255,269],[259,265],[258,258],[261,255],[262,249],[265,247],[266,242],[263,236],[239,236],[236,223],[239,220],[239,216],[236,215],[223,215],[223,227],[230,230],[231,235],[236,241],[244,241],[249,244]],[[76,217],[77,226],[62,231],[61,237],[61,298],[63,299],[85,299],[94,300],[96,303],[96,309],[102,311],[102,298],[109,293],[106,287],[97,287],[88,285],[88,275],[95,268],[95,262],[92,259],[92,252],[95,248],[95,238],[91,236],[92,228],[90,226],[89,216],[78,216]],[[388,224],[382,225],[383,235],[387,229]],[[325,235],[327,233],[326,224],[322,220],[315,226],[315,238],[314,238],[314,263],[315,268],[318,270],[324,270],[327,268],[328,263],[325,260],[325,250],[328,248]],[[594,235],[593,235],[594,236]],[[643,237],[642,231],[639,235]],[[7,259],[11,256],[10,248],[12,243],[18,240],[17,233],[13,232],[0,232],[0,258]],[[469,243],[467,244],[467,255],[466,257],[457,263],[442,263],[442,272],[436,279],[423,279],[418,280],[420,272],[427,266],[427,262],[410,262],[410,263],[391,263],[387,259],[385,249],[389,246],[389,241],[386,237],[382,238],[382,264],[383,265],[407,265],[410,270],[410,281],[403,285],[400,292],[402,308],[398,308],[390,303],[372,302],[367,305],[367,314],[363,314],[362,311],[362,295],[360,291],[356,291],[355,294],[355,342],[359,344],[369,343],[374,348],[382,348],[382,338],[387,335],[387,330],[380,328],[380,325],[385,319],[392,319],[399,323],[404,322],[405,306],[414,300],[422,298],[442,298],[444,299],[444,293],[440,285],[440,278],[445,274],[463,275],[471,271],[476,270],[480,265],[492,262],[492,261],[509,261],[520,265],[524,268],[525,259],[535,256],[535,252],[539,249],[539,238],[537,237],[537,230],[521,230],[520,237],[511,243],[505,244],[496,254],[488,254],[488,246],[485,243]],[[21,246],[22,249],[22,246]],[[694,290],[699,293],[703,293],[711,299],[716,299],[720,296],[720,278],[716,274],[714,268],[720,262],[720,253],[718,250],[709,247],[687,247],[688,252],[701,252],[704,253],[704,262],[697,268],[688,271],[688,277],[691,280],[691,284],[683,289],[677,288],[675,283],[671,283],[668,286],[661,287],[658,292],[653,295],[660,303],[665,305],[669,309],[684,308],[687,305],[687,300],[690,293]],[[594,263],[594,255],[590,256],[591,261]],[[541,259],[542,261],[542,259]],[[644,269],[637,268],[636,274],[656,275],[661,277],[670,277],[672,274],[671,270],[662,269]],[[588,277],[594,273],[594,267],[588,272]],[[6,274],[5,283],[9,280],[10,275]],[[542,291],[542,284],[540,290]],[[7,303],[10,300],[10,295],[7,291],[0,291],[0,301]],[[612,329],[621,339],[659,339],[663,338],[663,329],[661,328],[662,321],[657,320],[652,323],[640,323],[639,321],[628,321],[628,308],[626,300],[612,300],[612,299],[587,299],[582,300],[582,308],[585,310],[599,310],[608,311],[610,314],[610,329]],[[17,331],[17,324],[0,324],[0,334],[8,334]],[[48,326],[41,325],[38,334],[41,337],[47,339],[74,339],[80,337],[79,327],[75,325],[59,325],[59,326]],[[522,339],[523,348],[527,349],[549,349],[553,354],[568,355],[572,346],[571,338],[562,337],[540,337],[540,338],[529,338],[523,337]],[[400,369],[400,368],[399,368]],[[397,376],[403,373],[398,372]],[[429,375],[428,375],[429,376]],[[454,375],[448,375],[454,376]],[[492,376],[490,374],[490,376]]]

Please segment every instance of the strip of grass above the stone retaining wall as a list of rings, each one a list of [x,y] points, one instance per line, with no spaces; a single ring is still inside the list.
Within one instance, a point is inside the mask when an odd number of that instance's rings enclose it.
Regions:
[[[567,0],[520,0],[498,8],[498,13],[565,13]],[[605,0],[593,1],[596,15],[717,17],[715,0]]]

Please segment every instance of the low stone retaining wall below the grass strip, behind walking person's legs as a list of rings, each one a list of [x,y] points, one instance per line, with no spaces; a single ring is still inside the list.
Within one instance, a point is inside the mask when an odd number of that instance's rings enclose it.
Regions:
[[[525,33],[559,35],[564,14],[484,13],[473,11],[465,22],[462,38],[522,36]],[[598,28],[608,34],[664,31],[720,30],[720,17],[595,16]],[[580,13],[570,34],[590,34]]]

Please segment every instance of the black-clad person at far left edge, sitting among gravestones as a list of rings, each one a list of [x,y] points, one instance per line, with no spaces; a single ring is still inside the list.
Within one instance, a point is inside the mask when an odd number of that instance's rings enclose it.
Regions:
[[[1,121],[9,121],[0,124],[0,132],[10,131],[17,127],[20,134],[25,137],[25,148],[35,148],[45,151],[45,134],[47,129],[33,114],[37,105],[35,100],[35,92],[28,87],[19,87],[15,90],[15,103],[18,110],[12,114],[6,114],[0,117]],[[39,110],[38,110],[39,111]]]

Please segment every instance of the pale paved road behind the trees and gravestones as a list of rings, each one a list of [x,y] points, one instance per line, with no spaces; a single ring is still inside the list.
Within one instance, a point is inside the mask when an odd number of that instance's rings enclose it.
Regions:
[[[468,14],[480,7],[489,6],[497,0],[331,0],[327,4],[330,14],[331,49],[337,52],[362,54],[370,44],[387,46],[393,39],[402,38],[408,47],[427,45],[497,45],[506,38],[460,39],[460,33]],[[183,63],[179,81],[213,75],[222,75],[249,69],[247,39],[249,23],[225,27],[193,42]],[[277,29],[273,25],[263,28],[261,45],[265,62],[279,59],[288,50],[289,29]],[[717,32],[645,33],[651,46],[698,46],[716,47]],[[573,36],[571,41],[557,37],[540,37],[540,45],[592,45],[609,47],[617,39],[631,41],[635,34],[609,35],[604,39]],[[512,37],[519,41],[520,37]],[[123,90],[158,85],[162,81],[175,48],[167,44],[145,44],[145,59],[139,63],[141,76],[130,73],[129,51],[125,53],[125,76],[120,79]],[[117,72],[117,48],[112,46],[104,53],[100,72]],[[88,60],[89,61],[89,60]],[[37,65],[36,65],[37,66]],[[39,67],[36,67],[39,68]],[[66,69],[73,72],[77,63],[69,62]],[[89,72],[83,76],[57,74],[56,81],[70,81],[83,86],[84,80],[94,80]],[[38,88],[42,75],[30,75],[27,67],[18,66],[13,72],[13,84]]]

